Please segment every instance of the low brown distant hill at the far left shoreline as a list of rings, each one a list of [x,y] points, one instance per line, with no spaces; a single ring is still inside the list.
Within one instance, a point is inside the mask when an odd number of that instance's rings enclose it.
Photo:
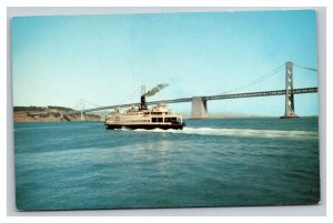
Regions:
[[[65,107],[13,107],[14,122],[81,121],[80,114],[63,115],[74,111]],[[101,116],[87,114],[85,121],[100,121]]]

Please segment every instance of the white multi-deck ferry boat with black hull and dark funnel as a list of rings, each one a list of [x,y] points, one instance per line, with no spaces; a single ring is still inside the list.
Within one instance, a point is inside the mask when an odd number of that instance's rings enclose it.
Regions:
[[[182,115],[175,114],[168,109],[167,104],[161,102],[148,109],[145,95],[141,97],[140,107],[132,107],[128,110],[117,108],[105,118],[107,129],[175,129],[182,130],[185,123]]]

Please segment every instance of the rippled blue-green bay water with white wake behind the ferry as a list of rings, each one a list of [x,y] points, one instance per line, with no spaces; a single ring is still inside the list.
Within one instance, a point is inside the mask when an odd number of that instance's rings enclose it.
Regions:
[[[16,123],[19,210],[313,204],[317,118],[186,120],[179,130]]]

